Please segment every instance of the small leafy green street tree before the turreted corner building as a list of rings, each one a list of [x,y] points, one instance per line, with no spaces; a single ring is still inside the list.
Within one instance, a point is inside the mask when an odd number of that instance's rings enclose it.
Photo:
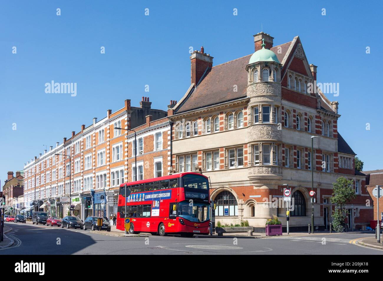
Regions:
[[[348,202],[353,200],[356,195],[354,191],[354,181],[347,180],[344,177],[340,177],[333,184],[333,193],[330,198],[331,203],[335,204],[335,210],[332,212],[332,223],[334,229],[337,226],[342,225],[348,214],[348,211],[345,210],[345,206]]]

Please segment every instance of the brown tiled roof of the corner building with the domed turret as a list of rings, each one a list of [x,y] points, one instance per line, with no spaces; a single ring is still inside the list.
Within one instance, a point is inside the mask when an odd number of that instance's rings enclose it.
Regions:
[[[291,42],[288,42],[272,47],[270,50],[282,62],[290,44]],[[278,52],[278,50],[280,51]],[[246,97],[246,65],[249,63],[251,55],[212,67],[190,97],[177,109],[177,113]],[[237,85],[236,92],[233,91],[234,85]]]

